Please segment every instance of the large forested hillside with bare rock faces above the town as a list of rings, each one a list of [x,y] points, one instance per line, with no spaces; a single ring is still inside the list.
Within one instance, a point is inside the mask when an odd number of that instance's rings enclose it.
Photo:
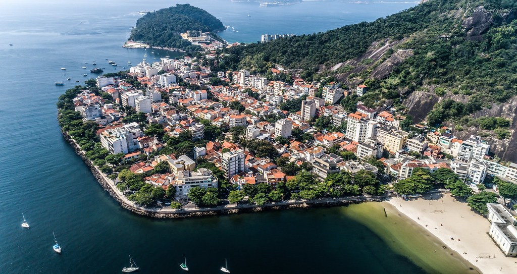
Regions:
[[[231,47],[226,65],[266,73],[279,64],[309,81],[335,77],[351,88],[364,83],[371,90],[359,98],[364,104],[393,106],[415,123],[452,126],[460,136],[483,134],[499,157],[515,161],[514,6],[510,0],[430,0],[373,22]],[[504,117],[511,125],[480,127],[483,116]]]

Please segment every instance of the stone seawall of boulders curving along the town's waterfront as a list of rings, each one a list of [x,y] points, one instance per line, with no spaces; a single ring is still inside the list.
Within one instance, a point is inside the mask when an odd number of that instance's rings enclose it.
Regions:
[[[357,204],[362,202],[382,202],[385,201],[388,197],[392,195],[385,196],[377,196],[377,197],[347,197],[342,199],[323,199],[323,200],[310,200],[310,201],[287,201],[281,202],[277,204],[265,204],[262,206],[258,205],[237,205],[234,207],[225,207],[220,206],[216,208],[200,208],[194,210],[186,210],[186,209],[177,209],[175,211],[171,211],[168,209],[165,211],[160,208],[146,208],[133,204],[123,195],[118,193],[118,190],[115,188],[113,184],[109,183],[109,179],[105,174],[100,172],[98,168],[93,164],[92,161],[88,160],[84,155],[84,151],[81,150],[79,145],[75,143],[75,141],[71,138],[71,136],[61,130],[63,137],[65,140],[72,146],[75,150],[75,153],[79,155],[84,161],[84,163],[90,168],[92,174],[99,182],[99,185],[120,204],[121,207],[134,212],[135,214],[151,217],[151,218],[162,218],[162,219],[174,219],[174,218],[190,218],[190,217],[203,217],[203,216],[217,216],[217,215],[229,215],[229,214],[239,214],[246,212],[262,212],[262,211],[270,211],[270,210],[283,210],[290,208],[308,208],[308,207],[326,207],[326,206],[340,206],[340,205],[348,205],[348,204]]]

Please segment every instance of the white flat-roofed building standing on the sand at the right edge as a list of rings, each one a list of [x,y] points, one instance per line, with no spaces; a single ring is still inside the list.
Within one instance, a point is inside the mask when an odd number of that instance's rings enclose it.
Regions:
[[[488,207],[489,235],[507,256],[517,256],[517,221],[500,204],[486,204]]]

